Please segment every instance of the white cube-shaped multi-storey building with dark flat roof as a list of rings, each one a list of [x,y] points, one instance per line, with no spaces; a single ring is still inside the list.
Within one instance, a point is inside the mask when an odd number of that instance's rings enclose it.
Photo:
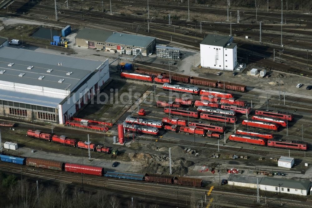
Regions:
[[[200,43],[202,67],[233,71],[237,68],[237,45],[233,37],[207,35]]]

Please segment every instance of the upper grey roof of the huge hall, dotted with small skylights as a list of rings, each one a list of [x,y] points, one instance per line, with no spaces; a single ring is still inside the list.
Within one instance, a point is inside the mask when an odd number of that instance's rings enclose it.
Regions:
[[[14,63],[9,67],[9,63]],[[62,63],[62,65],[58,65]],[[0,80],[60,90],[74,90],[74,87],[95,71],[103,62],[61,56],[10,47],[0,48]],[[33,66],[31,69],[27,67]],[[51,72],[47,70],[53,69]],[[90,69],[90,70],[86,70]],[[66,73],[72,72],[70,75]],[[21,73],[24,75],[19,76]],[[38,78],[44,76],[42,80]],[[58,81],[64,79],[62,83]]]

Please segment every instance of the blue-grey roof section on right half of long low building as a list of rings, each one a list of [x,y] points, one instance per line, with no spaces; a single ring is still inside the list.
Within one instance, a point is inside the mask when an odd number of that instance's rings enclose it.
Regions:
[[[145,48],[155,39],[156,39],[155,37],[131,35],[115,32],[114,34],[112,34],[110,37],[107,38],[106,42]]]

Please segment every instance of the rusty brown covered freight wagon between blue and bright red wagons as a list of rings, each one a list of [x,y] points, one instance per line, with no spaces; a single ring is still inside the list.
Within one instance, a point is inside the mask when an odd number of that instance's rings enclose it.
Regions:
[[[57,171],[64,170],[64,162],[56,162],[51,160],[43,160],[38,158],[26,157],[26,165],[32,167],[40,167]]]

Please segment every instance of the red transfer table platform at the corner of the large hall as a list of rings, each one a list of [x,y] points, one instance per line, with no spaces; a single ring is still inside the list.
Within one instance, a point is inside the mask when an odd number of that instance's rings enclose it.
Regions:
[[[72,118],[72,120],[66,121],[65,125],[107,132],[108,131],[107,126],[112,127],[113,123],[94,121],[94,120],[86,120],[86,119],[81,119],[81,118]]]

